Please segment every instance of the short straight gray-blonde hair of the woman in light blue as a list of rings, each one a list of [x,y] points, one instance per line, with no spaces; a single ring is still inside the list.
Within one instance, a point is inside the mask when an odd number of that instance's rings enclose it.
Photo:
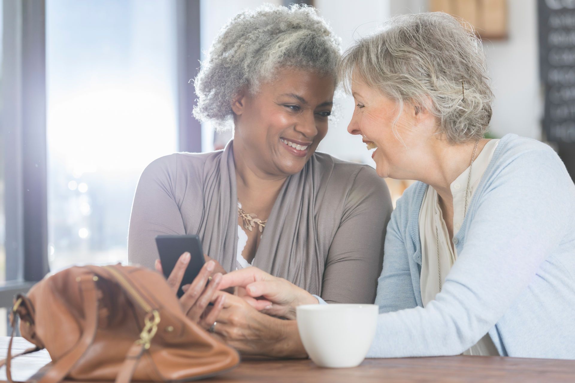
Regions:
[[[430,111],[451,145],[476,140],[489,126],[493,92],[481,40],[447,13],[390,18],[343,53],[347,92],[354,74],[397,100],[400,113],[404,102]]]

